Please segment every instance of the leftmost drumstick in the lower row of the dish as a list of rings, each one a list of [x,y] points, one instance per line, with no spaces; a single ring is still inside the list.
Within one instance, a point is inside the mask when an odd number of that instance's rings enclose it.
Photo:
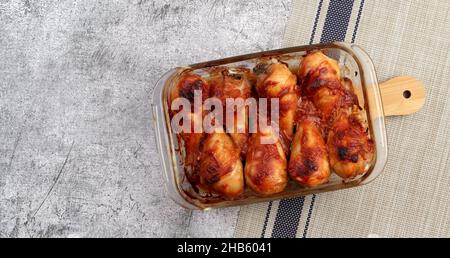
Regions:
[[[244,192],[239,152],[223,129],[208,134],[200,156],[200,184],[206,190],[233,199]]]

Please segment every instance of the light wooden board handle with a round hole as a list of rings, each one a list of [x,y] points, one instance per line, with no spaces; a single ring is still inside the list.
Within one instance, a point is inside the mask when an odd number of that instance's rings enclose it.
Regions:
[[[380,84],[385,116],[409,115],[425,104],[426,92],[421,81],[399,76]]]

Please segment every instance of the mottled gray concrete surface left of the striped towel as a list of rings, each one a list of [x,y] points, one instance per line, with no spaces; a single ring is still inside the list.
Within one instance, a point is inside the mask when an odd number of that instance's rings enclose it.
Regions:
[[[0,237],[231,237],[164,193],[167,69],[280,46],[290,1],[0,1]]]

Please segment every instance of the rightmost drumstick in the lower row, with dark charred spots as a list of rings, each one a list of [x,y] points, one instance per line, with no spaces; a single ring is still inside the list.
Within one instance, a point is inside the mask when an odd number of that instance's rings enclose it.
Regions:
[[[338,115],[327,140],[330,164],[342,178],[353,178],[366,171],[373,159],[374,147],[357,113]]]

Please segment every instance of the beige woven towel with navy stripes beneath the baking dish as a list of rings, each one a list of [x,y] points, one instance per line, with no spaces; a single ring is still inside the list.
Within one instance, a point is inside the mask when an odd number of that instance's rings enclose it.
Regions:
[[[236,237],[450,237],[450,1],[294,0],[285,46],[347,41],[380,81],[412,75],[427,101],[386,119],[388,163],[353,189],[242,207]]]

